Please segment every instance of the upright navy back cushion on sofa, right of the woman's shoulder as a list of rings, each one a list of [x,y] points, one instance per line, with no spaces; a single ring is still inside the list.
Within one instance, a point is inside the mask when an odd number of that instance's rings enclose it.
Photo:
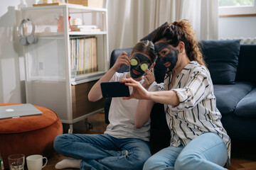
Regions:
[[[234,84],[240,40],[201,40],[213,84]]]

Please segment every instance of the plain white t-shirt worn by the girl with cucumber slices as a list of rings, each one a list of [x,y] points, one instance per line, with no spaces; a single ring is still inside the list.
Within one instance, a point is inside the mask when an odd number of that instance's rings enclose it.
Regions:
[[[110,81],[120,81],[126,78],[127,72],[115,73]],[[140,84],[144,83],[144,79],[139,81]],[[130,94],[132,93],[132,87],[129,86]],[[149,91],[158,91],[158,85],[154,81],[149,86]],[[134,114],[137,108],[139,100],[132,98],[129,100],[123,100],[122,97],[112,98],[109,112],[110,124],[107,125],[105,134],[112,137],[123,138],[139,138],[145,141],[149,141],[150,133],[150,118],[142,128],[134,127]]]

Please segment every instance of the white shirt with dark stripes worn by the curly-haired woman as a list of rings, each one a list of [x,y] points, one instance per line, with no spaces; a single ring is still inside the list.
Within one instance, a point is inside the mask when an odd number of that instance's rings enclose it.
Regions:
[[[225,142],[229,155],[227,165],[230,164],[230,137],[220,122],[221,114],[216,107],[208,69],[192,61],[177,75],[172,85],[171,78],[172,75],[165,78],[164,84],[159,84],[159,91],[174,90],[180,101],[175,107],[164,105],[166,121],[171,130],[170,145],[186,146],[198,135],[214,132]]]

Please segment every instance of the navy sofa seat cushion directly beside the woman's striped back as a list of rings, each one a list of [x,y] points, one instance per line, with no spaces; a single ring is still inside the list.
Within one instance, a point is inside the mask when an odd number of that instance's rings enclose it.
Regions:
[[[220,113],[222,115],[233,113],[238,102],[252,91],[253,86],[252,83],[245,81],[238,81],[235,84],[215,84],[214,94]]]

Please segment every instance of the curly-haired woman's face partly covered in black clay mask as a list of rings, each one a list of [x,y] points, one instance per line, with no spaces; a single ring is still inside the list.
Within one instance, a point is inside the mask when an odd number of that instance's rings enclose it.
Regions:
[[[178,50],[164,42],[155,44],[155,49],[158,54],[157,60],[160,60],[169,71],[174,69],[178,60]]]

